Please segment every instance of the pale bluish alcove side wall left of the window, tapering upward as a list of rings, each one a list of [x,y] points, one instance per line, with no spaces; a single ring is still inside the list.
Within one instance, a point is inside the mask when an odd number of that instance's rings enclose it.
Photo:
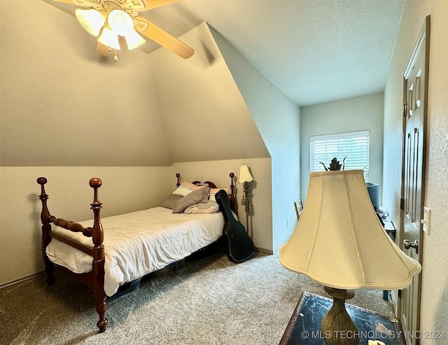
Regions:
[[[297,224],[300,194],[300,108],[233,48],[211,33],[272,157],[272,250],[288,240]]]

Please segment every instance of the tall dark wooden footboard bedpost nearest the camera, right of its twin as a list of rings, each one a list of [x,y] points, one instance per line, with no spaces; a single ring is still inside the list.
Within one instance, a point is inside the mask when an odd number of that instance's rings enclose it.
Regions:
[[[92,241],[93,241],[93,262],[92,262],[92,275],[93,284],[92,292],[95,299],[95,307],[99,315],[97,327],[99,332],[104,332],[107,326],[106,318],[106,292],[104,292],[104,234],[103,226],[99,219],[99,211],[102,208],[102,203],[99,202],[98,188],[101,187],[102,182],[99,178],[90,179],[90,187],[93,188],[93,202],[90,204],[93,210],[94,223],[92,228]]]

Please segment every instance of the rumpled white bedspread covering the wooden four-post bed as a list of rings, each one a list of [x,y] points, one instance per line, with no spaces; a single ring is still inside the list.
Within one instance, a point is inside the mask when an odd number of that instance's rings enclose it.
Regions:
[[[104,230],[104,291],[112,296],[123,283],[141,278],[179,261],[216,241],[223,234],[224,217],[213,214],[173,214],[167,208],[101,219]],[[93,221],[79,222],[84,227]],[[53,226],[52,231],[93,247],[92,238]],[[92,271],[92,257],[52,238],[48,258],[75,273]]]

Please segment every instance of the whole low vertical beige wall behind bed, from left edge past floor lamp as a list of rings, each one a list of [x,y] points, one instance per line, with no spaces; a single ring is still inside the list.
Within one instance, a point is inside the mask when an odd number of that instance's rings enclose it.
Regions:
[[[48,209],[55,217],[73,221],[92,219],[92,177],[102,179],[99,200],[102,217],[160,205],[176,189],[176,173],[182,181],[211,180],[230,187],[235,173],[238,215],[246,224],[241,207],[242,185],[237,182],[241,159],[174,163],[169,167],[0,167],[0,285],[43,271],[41,257],[41,201],[38,177],[46,177]],[[272,208],[270,158],[248,158],[255,182],[251,182],[253,241],[272,251]]]

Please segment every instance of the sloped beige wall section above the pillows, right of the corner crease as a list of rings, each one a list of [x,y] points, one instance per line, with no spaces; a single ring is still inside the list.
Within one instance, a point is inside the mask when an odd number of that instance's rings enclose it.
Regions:
[[[268,158],[269,153],[206,22],[181,36],[188,60],[166,49],[151,70],[174,162]]]

